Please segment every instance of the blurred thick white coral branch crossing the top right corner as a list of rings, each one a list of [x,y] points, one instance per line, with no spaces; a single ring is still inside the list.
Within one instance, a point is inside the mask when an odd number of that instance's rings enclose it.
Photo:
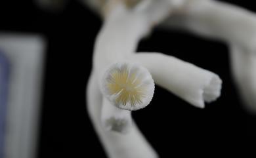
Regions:
[[[164,21],[165,28],[183,28],[203,37],[255,49],[256,16],[249,10],[214,0],[186,1]]]

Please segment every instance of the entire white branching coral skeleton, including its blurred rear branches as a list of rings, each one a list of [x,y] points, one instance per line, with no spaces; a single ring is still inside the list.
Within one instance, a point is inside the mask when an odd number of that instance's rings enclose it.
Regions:
[[[227,43],[235,81],[246,105],[256,111],[253,12],[214,0],[81,1],[104,18],[95,41],[87,108],[108,157],[158,157],[131,119],[132,110],[150,104],[154,83],[198,108],[221,94],[222,81],[211,71],[158,52],[135,53],[140,39],[158,24]]]

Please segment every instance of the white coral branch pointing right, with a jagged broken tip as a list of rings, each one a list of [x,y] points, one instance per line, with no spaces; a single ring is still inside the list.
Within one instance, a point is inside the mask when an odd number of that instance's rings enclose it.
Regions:
[[[221,94],[218,75],[175,57],[143,52],[132,54],[129,59],[147,68],[156,84],[198,108],[204,108],[204,101],[212,102]]]

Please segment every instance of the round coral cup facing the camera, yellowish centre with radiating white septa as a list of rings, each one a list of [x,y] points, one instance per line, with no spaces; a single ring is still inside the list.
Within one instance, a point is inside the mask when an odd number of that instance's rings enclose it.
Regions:
[[[117,62],[102,78],[102,93],[117,108],[137,110],[150,104],[154,95],[150,72],[131,62]]]

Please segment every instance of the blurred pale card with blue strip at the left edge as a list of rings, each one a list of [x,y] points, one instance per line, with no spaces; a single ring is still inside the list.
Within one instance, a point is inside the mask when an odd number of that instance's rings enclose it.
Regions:
[[[0,158],[35,157],[44,50],[39,35],[0,33]]]

